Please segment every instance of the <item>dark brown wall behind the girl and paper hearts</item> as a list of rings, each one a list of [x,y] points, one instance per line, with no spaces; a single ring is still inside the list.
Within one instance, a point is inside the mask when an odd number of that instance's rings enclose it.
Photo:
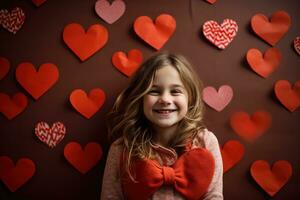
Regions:
[[[174,35],[161,49],[185,55],[194,64],[206,86],[232,86],[234,98],[222,112],[206,109],[206,123],[224,144],[229,139],[239,140],[245,146],[245,156],[234,168],[224,174],[225,199],[268,199],[250,176],[249,169],[255,160],[269,163],[287,160],[293,165],[293,176],[273,199],[300,198],[300,110],[291,113],[274,95],[274,84],[280,79],[295,83],[300,79],[300,56],[293,49],[293,40],[300,35],[300,4],[298,0],[217,0],[214,5],[203,0],[127,0],[125,14],[109,25],[95,11],[96,1],[48,0],[35,7],[29,0],[1,1],[1,8],[20,6],[26,14],[22,29],[16,35],[0,29],[0,56],[11,62],[11,70],[0,81],[0,92],[23,92],[29,99],[26,110],[7,120],[0,116],[0,156],[14,161],[21,157],[32,159],[37,167],[31,180],[12,193],[0,182],[0,199],[99,199],[101,180],[109,143],[104,123],[116,95],[128,83],[111,63],[116,51],[140,49],[144,58],[156,51],[139,39],[133,31],[134,20],[141,15],[152,19],[162,13],[171,14],[177,22]],[[248,49],[266,51],[270,46],[258,38],[250,27],[250,19],[257,13],[267,16],[278,10],[287,11],[292,25],[276,47],[283,59],[279,68],[269,78],[263,79],[248,66],[245,55]],[[223,51],[211,45],[202,35],[201,27],[207,20],[219,23],[225,18],[234,19],[239,31],[233,42]],[[109,31],[105,47],[81,62],[62,40],[64,27],[72,22],[85,29],[99,23]],[[58,82],[45,95],[35,101],[16,81],[15,69],[21,62],[31,62],[36,67],[52,62],[59,68]],[[90,120],[77,113],[69,102],[76,88],[89,91],[102,88],[106,101]],[[264,109],[273,117],[272,127],[255,142],[249,144],[238,137],[229,126],[229,117],[236,111],[253,113]],[[34,135],[35,124],[61,121],[67,134],[54,149],[48,148]],[[82,145],[96,141],[104,150],[101,161],[85,175],[77,172],[64,158],[64,146],[70,141]]]

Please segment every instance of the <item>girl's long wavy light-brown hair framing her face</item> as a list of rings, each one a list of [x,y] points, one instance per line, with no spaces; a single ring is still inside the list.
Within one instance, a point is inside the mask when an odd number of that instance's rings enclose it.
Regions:
[[[132,76],[129,85],[119,94],[108,114],[109,138],[119,140],[126,152],[126,171],[130,175],[130,166],[134,158],[153,158],[151,141],[153,131],[150,122],[144,116],[143,97],[146,95],[155,78],[157,70],[164,66],[174,67],[188,94],[188,111],[178,124],[178,134],[170,141],[174,149],[185,145],[205,128],[203,123],[203,102],[201,99],[202,83],[191,64],[181,55],[160,53],[145,61]]]

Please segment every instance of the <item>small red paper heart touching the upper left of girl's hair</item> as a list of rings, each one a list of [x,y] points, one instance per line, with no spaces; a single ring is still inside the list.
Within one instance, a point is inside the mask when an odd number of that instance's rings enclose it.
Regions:
[[[112,57],[113,65],[126,76],[131,76],[140,66],[143,61],[143,54],[138,49],[132,49],[127,55],[118,51]]]

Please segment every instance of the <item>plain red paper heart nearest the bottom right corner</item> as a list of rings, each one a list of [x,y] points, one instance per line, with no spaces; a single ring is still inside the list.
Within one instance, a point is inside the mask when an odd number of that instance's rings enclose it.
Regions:
[[[251,176],[271,197],[274,196],[291,178],[292,165],[285,160],[270,165],[265,160],[257,160],[251,165]]]

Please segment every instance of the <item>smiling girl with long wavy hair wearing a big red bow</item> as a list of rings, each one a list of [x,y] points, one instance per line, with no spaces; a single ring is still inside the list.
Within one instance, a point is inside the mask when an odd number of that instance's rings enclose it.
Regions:
[[[132,77],[109,115],[101,199],[223,199],[216,136],[203,124],[201,84],[187,60],[157,54]]]

